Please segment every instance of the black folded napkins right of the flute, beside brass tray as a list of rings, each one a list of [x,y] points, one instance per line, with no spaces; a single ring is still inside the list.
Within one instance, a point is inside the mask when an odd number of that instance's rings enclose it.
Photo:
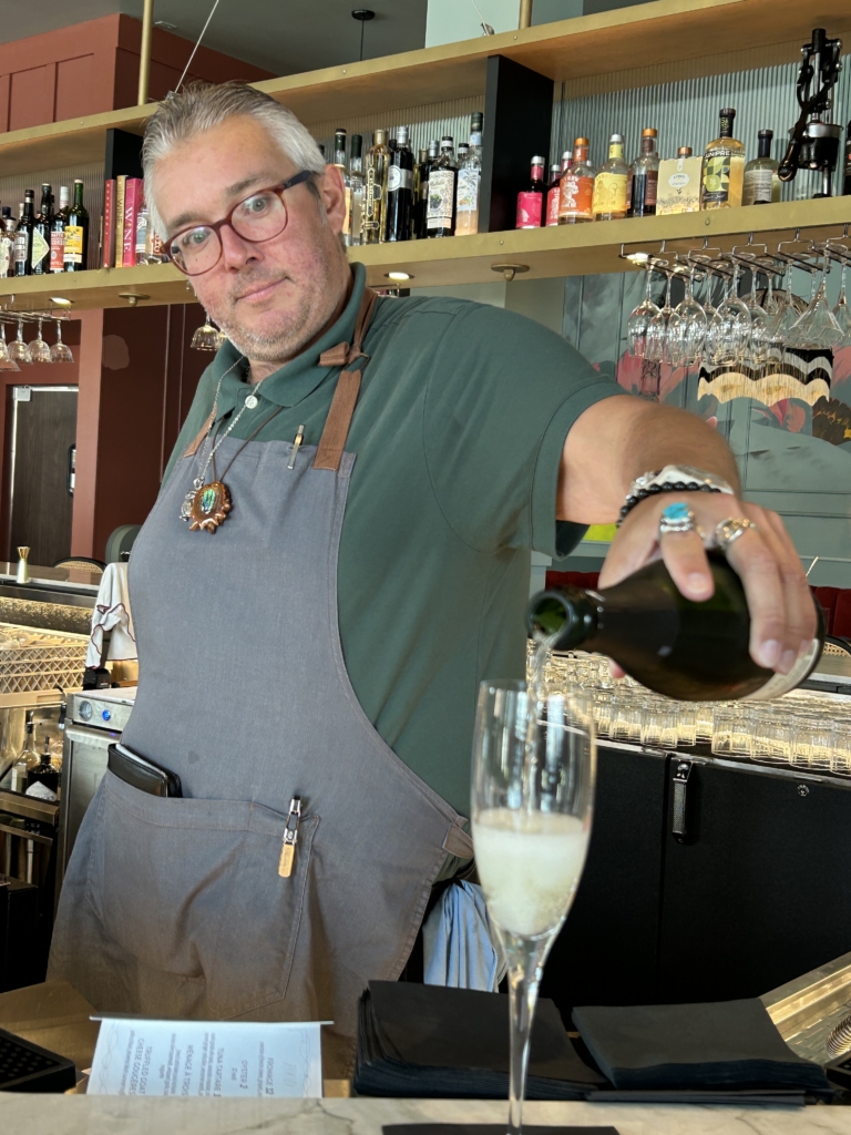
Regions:
[[[818,1065],[789,1048],[758,1000],[573,1010],[600,1070],[621,1091],[778,1091],[829,1098]]]

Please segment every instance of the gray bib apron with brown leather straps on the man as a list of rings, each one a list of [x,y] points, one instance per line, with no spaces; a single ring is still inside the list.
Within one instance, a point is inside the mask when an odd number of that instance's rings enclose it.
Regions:
[[[362,358],[373,299],[354,346],[321,362]],[[50,966],[102,1011],[332,1020],[326,1076],[351,1070],[357,998],[369,980],[398,977],[447,852],[472,854],[463,819],[373,729],[343,658],[337,560],[359,388],[360,372],[343,371],[319,447],[297,449],[293,468],[290,443],[250,442],[212,535],[179,519],[199,439],[145,522],[129,571],[140,687],[123,741],[176,772],[184,798],[107,773]],[[243,444],[226,438],[218,468]],[[293,797],[302,816],[284,877]]]

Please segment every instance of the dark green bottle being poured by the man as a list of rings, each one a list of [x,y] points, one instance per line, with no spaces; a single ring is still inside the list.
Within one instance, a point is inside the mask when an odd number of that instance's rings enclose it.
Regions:
[[[721,553],[709,554],[715,592],[686,599],[662,560],[597,591],[576,587],[532,596],[526,621],[555,649],[606,654],[648,689],[684,701],[778,697],[800,686],[824,646],[824,620],[811,647],[789,674],[757,665],[749,654],[750,614],[741,580]]]

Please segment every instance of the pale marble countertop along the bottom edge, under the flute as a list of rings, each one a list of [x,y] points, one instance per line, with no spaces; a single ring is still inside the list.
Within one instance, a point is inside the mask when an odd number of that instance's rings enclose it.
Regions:
[[[0,1095],[8,1135],[380,1135],[382,1124],[502,1123],[482,1100],[161,1100]],[[620,1135],[851,1135],[851,1108],[529,1103],[528,1124],[614,1126]]]

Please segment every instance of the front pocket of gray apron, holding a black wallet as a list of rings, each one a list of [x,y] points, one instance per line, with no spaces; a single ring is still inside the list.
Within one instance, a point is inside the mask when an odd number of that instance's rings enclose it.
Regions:
[[[287,989],[319,819],[303,816],[292,874],[287,817],[246,801],[163,799],[104,777],[89,894],[104,931],[162,975],[205,981],[214,1017]]]

